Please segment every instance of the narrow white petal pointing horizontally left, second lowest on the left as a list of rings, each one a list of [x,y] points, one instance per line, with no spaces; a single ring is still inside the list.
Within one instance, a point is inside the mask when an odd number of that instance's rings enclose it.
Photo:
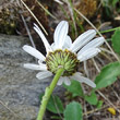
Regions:
[[[34,64],[34,63],[25,63],[23,67],[26,69],[32,69],[32,70],[47,71],[46,65],[38,65],[38,64]]]

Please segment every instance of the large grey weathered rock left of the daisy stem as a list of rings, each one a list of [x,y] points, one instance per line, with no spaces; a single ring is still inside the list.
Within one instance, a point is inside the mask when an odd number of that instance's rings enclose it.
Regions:
[[[0,104],[0,120],[36,120],[39,94],[50,82],[37,80],[38,71],[22,67],[23,63],[35,63],[34,57],[22,49],[28,41],[21,36],[0,35],[0,101],[19,116],[16,119]],[[56,92],[60,92],[60,87]]]

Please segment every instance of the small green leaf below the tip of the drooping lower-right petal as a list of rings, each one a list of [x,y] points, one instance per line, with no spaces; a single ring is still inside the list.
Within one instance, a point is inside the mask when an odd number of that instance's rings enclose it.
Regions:
[[[91,96],[85,96],[85,100],[91,105],[97,105],[98,103],[97,96],[94,92],[91,94]]]

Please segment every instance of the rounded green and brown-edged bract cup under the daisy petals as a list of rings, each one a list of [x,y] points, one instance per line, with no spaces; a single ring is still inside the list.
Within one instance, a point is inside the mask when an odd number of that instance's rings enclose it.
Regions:
[[[46,57],[47,69],[56,74],[60,67],[63,67],[64,72],[62,76],[70,76],[77,71],[80,61],[76,56],[69,50],[56,50],[49,52]]]

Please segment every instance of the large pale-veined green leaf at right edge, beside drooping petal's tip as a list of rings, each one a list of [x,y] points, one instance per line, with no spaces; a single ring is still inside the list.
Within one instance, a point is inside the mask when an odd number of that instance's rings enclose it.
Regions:
[[[117,81],[120,75],[120,62],[113,62],[106,65],[95,79],[96,88],[107,87]]]

